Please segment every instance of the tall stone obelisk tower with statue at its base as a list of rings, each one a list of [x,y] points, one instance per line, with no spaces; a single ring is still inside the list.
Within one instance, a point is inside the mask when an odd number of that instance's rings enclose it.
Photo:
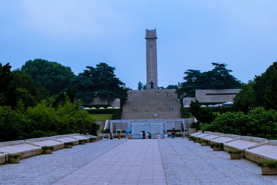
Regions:
[[[157,89],[157,35],[156,29],[146,29],[146,84],[147,89]]]

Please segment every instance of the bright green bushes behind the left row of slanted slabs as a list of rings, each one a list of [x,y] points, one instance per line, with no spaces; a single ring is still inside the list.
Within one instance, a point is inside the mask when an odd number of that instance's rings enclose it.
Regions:
[[[79,106],[66,102],[52,107],[46,100],[28,107],[26,112],[0,106],[0,142],[72,133],[96,135],[99,125]]]

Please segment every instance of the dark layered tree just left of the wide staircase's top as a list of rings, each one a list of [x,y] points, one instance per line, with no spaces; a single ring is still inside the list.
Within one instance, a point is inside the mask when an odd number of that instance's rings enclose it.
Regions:
[[[95,68],[90,66],[86,68],[71,81],[76,87],[75,97],[77,99],[87,102],[93,100],[96,95],[102,99],[119,98],[122,102],[127,101],[127,89],[124,89],[124,83],[116,78],[115,67],[100,63]]]

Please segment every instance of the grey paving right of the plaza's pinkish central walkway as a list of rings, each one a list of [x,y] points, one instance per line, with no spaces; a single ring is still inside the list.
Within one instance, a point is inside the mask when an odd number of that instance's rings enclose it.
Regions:
[[[231,160],[227,152],[187,138],[161,139],[159,145],[167,184],[277,184],[276,175],[263,176],[255,163]]]

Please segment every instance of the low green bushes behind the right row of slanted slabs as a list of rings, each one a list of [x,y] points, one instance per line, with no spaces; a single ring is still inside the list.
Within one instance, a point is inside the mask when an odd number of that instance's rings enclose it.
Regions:
[[[212,123],[200,123],[200,130],[252,136],[277,140],[277,111],[256,108],[247,114],[227,112],[218,116]]]

